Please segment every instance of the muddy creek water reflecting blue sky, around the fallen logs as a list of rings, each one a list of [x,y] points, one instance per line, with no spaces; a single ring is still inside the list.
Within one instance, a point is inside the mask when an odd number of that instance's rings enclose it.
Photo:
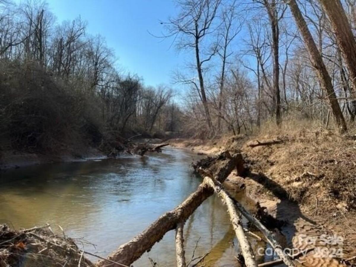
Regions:
[[[193,154],[167,148],[161,154],[20,168],[0,177],[0,223],[15,228],[49,223],[59,233],[83,238],[79,247],[107,256],[173,209],[201,178],[193,174]],[[242,194],[240,201],[248,206]],[[239,252],[226,208],[206,200],[185,224],[186,257],[210,251],[205,266],[237,266]],[[257,244],[251,240],[252,246]],[[168,232],[134,266],[175,266],[174,232]],[[92,259],[94,260],[94,259]],[[263,259],[260,259],[262,261]]]

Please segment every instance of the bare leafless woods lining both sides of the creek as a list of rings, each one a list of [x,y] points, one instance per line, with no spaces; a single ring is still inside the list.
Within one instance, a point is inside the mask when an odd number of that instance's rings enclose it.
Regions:
[[[177,0],[162,14],[191,53],[172,84],[123,74],[105,37],[45,2],[1,2],[3,149],[99,146],[108,136],[213,138],[306,120],[345,133],[356,116],[355,0]],[[79,11],[78,11],[79,12]],[[79,14],[78,14],[79,15]],[[149,30],[149,29],[148,29]],[[147,33],[148,34],[148,33]],[[83,141],[84,140],[84,141]]]

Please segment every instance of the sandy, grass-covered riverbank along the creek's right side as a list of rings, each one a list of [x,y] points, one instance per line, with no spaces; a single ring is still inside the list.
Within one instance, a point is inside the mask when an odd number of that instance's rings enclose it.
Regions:
[[[241,150],[250,172],[245,178],[232,173],[226,185],[245,188],[248,197],[286,221],[290,227],[284,234],[291,237],[291,245],[298,245],[301,234],[320,237],[327,233],[342,237],[342,258],[356,255],[353,136],[340,137],[323,129],[273,129],[250,137],[169,142],[206,154]]]

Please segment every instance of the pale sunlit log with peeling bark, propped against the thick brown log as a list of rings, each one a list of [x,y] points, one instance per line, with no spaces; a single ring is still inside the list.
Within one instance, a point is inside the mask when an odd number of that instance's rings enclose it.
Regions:
[[[230,221],[232,227],[234,228],[237,240],[239,241],[240,249],[242,252],[242,256],[244,256],[246,266],[257,267],[255,255],[253,255],[251,245],[247,240],[244,227],[242,226],[241,213],[236,210],[234,201],[230,198],[230,196],[225,192],[223,188],[216,185],[217,183],[214,182],[213,179],[206,176],[204,178],[204,182],[209,184],[210,187],[214,189],[215,193],[226,204],[227,212],[230,215]]]

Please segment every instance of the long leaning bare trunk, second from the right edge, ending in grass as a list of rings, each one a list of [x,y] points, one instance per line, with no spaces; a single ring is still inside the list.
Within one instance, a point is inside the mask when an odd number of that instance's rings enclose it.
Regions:
[[[333,88],[333,83],[331,82],[331,77],[328,70],[325,67],[323,59],[316,47],[315,41],[308,29],[307,23],[304,20],[302,13],[299,10],[297,2],[295,0],[285,0],[289,4],[290,10],[292,11],[293,17],[300,33],[302,34],[305,47],[308,50],[310,60],[313,64],[316,74],[318,75],[321,87],[326,91],[326,95],[331,105],[331,110],[334,115],[335,123],[340,132],[345,132],[347,130],[344,115],[341,112],[339,103],[336,99],[336,94]],[[356,67],[356,66],[355,66]]]

